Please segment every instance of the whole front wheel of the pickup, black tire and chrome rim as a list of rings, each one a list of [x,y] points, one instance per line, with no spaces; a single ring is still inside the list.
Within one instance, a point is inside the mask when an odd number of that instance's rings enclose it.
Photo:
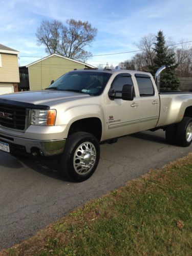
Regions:
[[[99,142],[90,133],[76,132],[67,139],[58,159],[59,172],[71,181],[89,179],[95,172],[100,157]]]

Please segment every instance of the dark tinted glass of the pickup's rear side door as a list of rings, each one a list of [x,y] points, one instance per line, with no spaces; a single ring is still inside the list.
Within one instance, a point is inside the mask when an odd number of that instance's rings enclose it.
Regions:
[[[154,87],[150,78],[136,77],[140,96],[153,96]]]

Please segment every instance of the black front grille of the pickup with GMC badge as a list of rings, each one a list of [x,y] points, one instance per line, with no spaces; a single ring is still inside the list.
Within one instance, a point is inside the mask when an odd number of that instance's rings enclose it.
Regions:
[[[15,130],[25,130],[26,108],[0,103],[0,125]]]

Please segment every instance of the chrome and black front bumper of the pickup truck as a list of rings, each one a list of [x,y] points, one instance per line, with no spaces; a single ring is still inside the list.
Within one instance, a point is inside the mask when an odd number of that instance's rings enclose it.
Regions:
[[[32,154],[33,156],[60,155],[65,147],[66,139],[62,140],[33,140],[0,133],[0,141],[9,144],[10,153]]]

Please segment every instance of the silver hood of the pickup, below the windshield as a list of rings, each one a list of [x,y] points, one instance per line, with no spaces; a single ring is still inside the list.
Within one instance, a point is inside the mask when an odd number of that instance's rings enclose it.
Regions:
[[[33,91],[33,92],[20,92],[4,94],[0,96],[1,99],[14,100],[19,102],[32,103],[37,105],[49,105],[54,101],[70,101],[74,99],[87,98],[90,97],[89,94],[69,92],[69,91]]]

